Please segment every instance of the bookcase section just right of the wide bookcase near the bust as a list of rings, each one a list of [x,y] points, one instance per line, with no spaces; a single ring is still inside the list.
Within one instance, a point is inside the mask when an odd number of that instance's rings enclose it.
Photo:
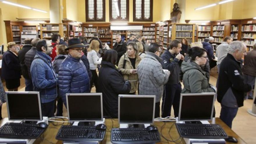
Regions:
[[[197,35],[196,40],[198,42],[203,42],[205,38],[210,37],[211,26],[210,25],[197,25]]]

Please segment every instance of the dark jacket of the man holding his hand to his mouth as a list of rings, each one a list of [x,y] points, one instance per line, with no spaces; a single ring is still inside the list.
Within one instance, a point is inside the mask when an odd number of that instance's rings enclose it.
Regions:
[[[164,69],[170,71],[169,80],[166,84],[178,84],[179,82],[179,73],[180,73],[180,66],[179,66],[179,59],[175,58],[176,55],[170,53],[170,51],[166,50],[161,58],[163,59]]]

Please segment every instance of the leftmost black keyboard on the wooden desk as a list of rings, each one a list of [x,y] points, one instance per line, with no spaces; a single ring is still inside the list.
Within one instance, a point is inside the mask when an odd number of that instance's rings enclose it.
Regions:
[[[8,122],[0,128],[0,138],[36,139],[45,129],[37,124]]]

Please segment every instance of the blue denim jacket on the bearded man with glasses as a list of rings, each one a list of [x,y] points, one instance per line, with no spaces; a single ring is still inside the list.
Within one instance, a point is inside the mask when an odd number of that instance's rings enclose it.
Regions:
[[[41,103],[53,101],[57,97],[58,79],[51,65],[51,57],[41,51],[37,51],[31,64],[30,72],[34,91],[40,92]]]

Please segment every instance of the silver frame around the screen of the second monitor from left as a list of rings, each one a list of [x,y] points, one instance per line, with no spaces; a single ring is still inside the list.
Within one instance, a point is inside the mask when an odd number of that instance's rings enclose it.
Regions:
[[[100,105],[101,105],[101,119],[98,120],[70,120],[69,115],[69,105],[68,105],[68,96],[91,96],[91,95],[100,95]],[[102,93],[67,93],[66,94],[66,101],[67,101],[67,117],[68,121],[70,122],[95,122],[95,121],[103,121],[103,104],[102,104]]]

